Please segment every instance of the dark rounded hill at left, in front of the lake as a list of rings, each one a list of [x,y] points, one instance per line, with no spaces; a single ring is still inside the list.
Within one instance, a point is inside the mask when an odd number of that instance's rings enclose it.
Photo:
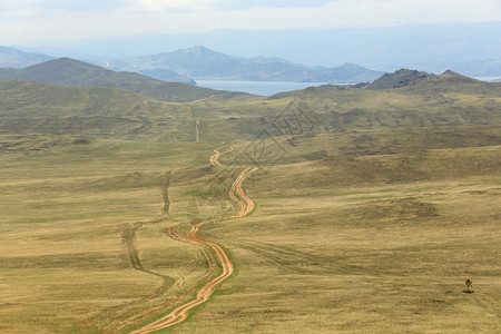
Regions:
[[[49,60],[22,69],[2,69],[0,79],[73,87],[117,88],[175,102],[247,96],[247,94],[214,90],[180,82],[166,82],[135,72],[117,72],[71,58]]]

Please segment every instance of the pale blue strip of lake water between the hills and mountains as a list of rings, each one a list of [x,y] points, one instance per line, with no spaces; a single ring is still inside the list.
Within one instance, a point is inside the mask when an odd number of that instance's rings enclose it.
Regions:
[[[196,81],[199,87],[206,87],[218,90],[244,91],[248,94],[263,96],[325,85],[325,82],[276,82],[276,81],[230,81],[230,80],[196,80]]]

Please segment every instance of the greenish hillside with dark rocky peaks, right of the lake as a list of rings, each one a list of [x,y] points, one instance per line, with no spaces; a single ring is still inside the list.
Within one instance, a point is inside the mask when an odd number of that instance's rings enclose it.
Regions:
[[[451,75],[384,90],[308,88],[293,95],[289,114],[325,130],[499,125],[501,86]]]

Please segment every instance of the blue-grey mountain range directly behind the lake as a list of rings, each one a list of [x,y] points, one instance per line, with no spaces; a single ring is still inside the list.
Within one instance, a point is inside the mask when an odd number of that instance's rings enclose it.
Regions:
[[[111,62],[110,67],[148,75],[170,70],[198,80],[357,84],[373,81],[383,75],[354,63],[335,68],[307,67],[281,58],[234,57],[204,47]]]

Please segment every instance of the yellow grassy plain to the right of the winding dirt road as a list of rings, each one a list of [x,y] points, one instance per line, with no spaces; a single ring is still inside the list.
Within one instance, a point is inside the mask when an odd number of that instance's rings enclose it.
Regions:
[[[247,185],[250,217],[207,230],[238,276],[173,333],[498,332],[500,156],[497,145],[277,163]]]

